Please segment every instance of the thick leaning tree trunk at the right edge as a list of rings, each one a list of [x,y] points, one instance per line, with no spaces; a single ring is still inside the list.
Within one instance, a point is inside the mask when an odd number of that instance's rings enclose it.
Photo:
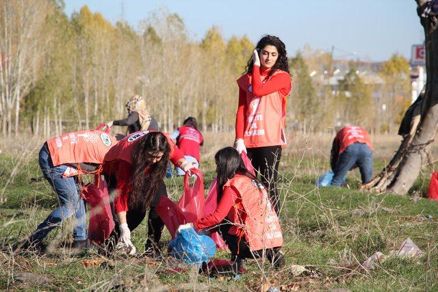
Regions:
[[[419,7],[426,5],[426,0],[417,0]],[[389,191],[394,194],[407,194],[424,162],[430,160],[430,144],[435,137],[438,125],[438,31],[437,16],[422,18],[426,44],[426,94],[422,103],[420,125],[413,137],[406,137],[393,159],[363,189]]]

